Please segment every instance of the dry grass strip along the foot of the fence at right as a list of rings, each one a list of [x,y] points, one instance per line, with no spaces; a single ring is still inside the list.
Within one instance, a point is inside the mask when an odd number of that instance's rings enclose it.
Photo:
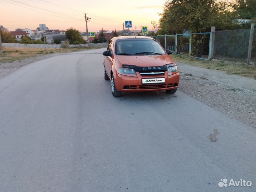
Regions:
[[[235,63],[224,61],[212,62],[206,60],[199,60],[195,58],[182,57],[180,55],[171,55],[171,57],[181,63],[188,65],[199,66],[206,69],[220,70],[226,72],[226,74],[234,74],[256,79],[256,65],[246,65],[244,63]]]

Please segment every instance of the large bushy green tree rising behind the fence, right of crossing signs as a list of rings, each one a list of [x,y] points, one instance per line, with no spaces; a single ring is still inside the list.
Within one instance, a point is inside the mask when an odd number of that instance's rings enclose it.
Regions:
[[[183,33],[183,30],[209,32],[229,30],[236,26],[231,5],[217,0],[168,0],[160,14],[159,28],[162,34]]]

